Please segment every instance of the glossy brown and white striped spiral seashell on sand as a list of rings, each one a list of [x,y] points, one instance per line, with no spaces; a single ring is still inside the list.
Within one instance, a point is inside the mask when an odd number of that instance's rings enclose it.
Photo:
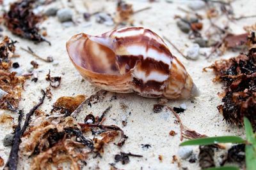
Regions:
[[[79,73],[101,89],[167,99],[198,96],[185,67],[149,29],[77,34],[68,40],[67,52]]]

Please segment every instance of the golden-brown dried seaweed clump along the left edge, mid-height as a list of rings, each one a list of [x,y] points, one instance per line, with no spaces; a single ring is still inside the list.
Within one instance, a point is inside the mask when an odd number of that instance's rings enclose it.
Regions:
[[[15,72],[10,73],[12,61],[15,52],[15,41],[5,37],[0,43],[0,89],[6,94],[0,99],[0,108],[4,110],[15,111],[19,106],[21,92],[26,78],[16,76]]]

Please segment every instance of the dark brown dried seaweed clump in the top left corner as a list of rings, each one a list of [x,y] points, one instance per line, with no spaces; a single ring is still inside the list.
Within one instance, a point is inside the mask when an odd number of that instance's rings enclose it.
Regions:
[[[40,15],[33,13],[35,0],[23,0],[12,3],[10,10],[4,13],[4,24],[13,33],[35,42],[49,41],[39,33],[38,23],[42,20]]]

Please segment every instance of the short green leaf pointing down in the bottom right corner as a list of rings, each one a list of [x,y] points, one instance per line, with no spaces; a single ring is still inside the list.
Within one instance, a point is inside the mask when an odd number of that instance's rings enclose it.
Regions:
[[[245,161],[246,161],[246,170],[255,170],[256,169],[256,152],[255,147],[252,145],[245,146]]]

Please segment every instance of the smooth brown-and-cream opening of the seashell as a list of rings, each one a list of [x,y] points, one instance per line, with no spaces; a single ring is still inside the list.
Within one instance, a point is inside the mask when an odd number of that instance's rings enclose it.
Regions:
[[[70,41],[67,50],[77,66],[94,73],[120,75],[116,55],[110,48],[92,41],[86,34],[79,34]]]

